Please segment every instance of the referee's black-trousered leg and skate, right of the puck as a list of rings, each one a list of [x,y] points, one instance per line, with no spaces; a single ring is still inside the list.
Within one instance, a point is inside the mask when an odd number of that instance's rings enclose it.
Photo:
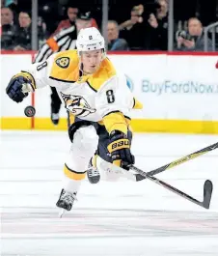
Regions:
[[[62,101],[60,100],[55,87],[51,87],[51,122],[54,125],[59,123],[59,112]]]

